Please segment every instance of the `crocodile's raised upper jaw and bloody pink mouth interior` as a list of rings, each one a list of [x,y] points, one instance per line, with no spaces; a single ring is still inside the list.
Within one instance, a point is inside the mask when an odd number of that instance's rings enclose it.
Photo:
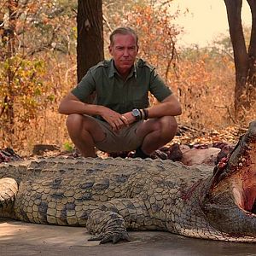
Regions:
[[[249,125],[241,137],[225,169],[218,170],[212,181],[212,190],[228,181],[236,205],[247,212],[256,213],[256,121]]]

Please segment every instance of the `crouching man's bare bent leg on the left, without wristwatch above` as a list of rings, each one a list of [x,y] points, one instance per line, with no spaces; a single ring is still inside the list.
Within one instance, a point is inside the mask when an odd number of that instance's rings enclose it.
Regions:
[[[67,131],[76,148],[84,157],[96,157],[95,142],[105,137],[100,125],[90,116],[73,113],[67,117]]]

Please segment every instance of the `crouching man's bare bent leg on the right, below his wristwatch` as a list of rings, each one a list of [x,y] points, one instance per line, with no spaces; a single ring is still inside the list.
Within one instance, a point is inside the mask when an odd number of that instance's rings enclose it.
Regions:
[[[144,137],[141,149],[144,154],[152,154],[154,150],[170,143],[177,132],[177,122],[172,116],[159,119],[148,119],[137,128],[137,135]]]

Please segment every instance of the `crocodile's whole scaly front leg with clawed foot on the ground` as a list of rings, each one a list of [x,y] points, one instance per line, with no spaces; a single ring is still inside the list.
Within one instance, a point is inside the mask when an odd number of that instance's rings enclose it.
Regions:
[[[87,220],[86,228],[95,235],[89,241],[130,241],[126,229],[143,227],[143,219],[148,216],[143,201],[138,199],[115,199],[103,203],[100,209],[90,212]]]

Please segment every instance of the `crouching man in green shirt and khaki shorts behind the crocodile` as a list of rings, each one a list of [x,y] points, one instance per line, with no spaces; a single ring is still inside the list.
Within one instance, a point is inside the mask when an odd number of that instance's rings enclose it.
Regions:
[[[155,68],[137,60],[137,33],[119,27],[110,35],[112,59],[91,67],[76,88],[65,96],[59,113],[67,114],[67,130],[84,157],[104,152],[136,150],[147,158],[172,141],[175,116],[181,106]],[[84,101],[96,92],[93,104]],[[148,92],[160,102],[149,107]]]

